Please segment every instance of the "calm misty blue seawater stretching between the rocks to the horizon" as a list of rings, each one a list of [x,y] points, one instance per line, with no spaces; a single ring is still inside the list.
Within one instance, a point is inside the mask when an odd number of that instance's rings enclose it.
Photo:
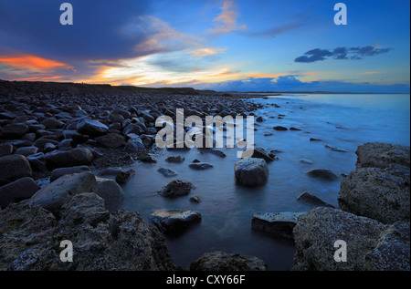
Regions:
[[[137,162],[132,166],[136,174],[124,187],[122,208],[137,211],[150,223],[151,212],[160,209],[180,209],[201,212],[201,223],[179,236],[167,237],[167,246],[174,262],[183,267],[203,253],[223,251],[255,255],[263,259],[269,270],[286,270],[293,264],[292,244],[276,240],[251,230],[254,212],[306,212],[311,206],[296,201],[303,191],[309,191],[337,206],[338,181],[320,181],[306,175],[311,169],[331,169],[337,175],[349,173],[355,167],[356,148],[367,141],[410,144],[409,95],[290,95],[253,99],[267,105],[256,111],[266,119],[257,123],[255,142],[258,147],[281,150],[279,160],[269,163],[269,181],[258,188],[243,188],[234,181],[236,149],[222,149],[227,158],[221,159],[199,150],[158,150],[155,164]],[[271,104],[280,108],[274,108]],[[278,119],[278,115],[285,115]],[[300,131],[276,131],[273,126],[295,127]],[[264,136],[271,132],[271,136]],[[310,141],[310,138],[322,141]],[[332,151],[324,147],[342,148],[348,152]],[[170,155],[184,156],[181,164],[164,159]],[[312,160],[312,164],[300,159]],[[191,170],[192,160],[214,165],[211,170]],[[161,167],[176,170],[179,175],[165,178],[157,172]],[[200,203],[189,197],[169,200],[159,191],[172,180],[191,181],[192,192],[200,196]]]

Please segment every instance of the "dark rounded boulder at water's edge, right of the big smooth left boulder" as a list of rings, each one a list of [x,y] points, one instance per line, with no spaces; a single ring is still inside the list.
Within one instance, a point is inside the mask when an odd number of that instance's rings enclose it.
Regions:
[[[96,178],[96,181],[99,184],[99,190],[96,193],[104,200],[107,210],[117,209],[124,199],[124,191],[114,180]]]

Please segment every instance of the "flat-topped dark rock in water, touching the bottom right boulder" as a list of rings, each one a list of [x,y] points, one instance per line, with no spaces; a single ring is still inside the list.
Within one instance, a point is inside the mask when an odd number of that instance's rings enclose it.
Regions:
[[[293,240],[292,230],[303,212],[255,212],[251,228],[261,232]]]

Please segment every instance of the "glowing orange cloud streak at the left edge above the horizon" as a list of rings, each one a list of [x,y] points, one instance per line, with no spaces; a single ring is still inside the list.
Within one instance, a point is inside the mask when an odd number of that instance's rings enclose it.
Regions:
[[[0,63],[4,63],[5,65],[10,67],[30,69],[40,72],[54,69],[73,69],[73,67],[68,66],[65,63],[27,54],[14,57],[0,56]]]

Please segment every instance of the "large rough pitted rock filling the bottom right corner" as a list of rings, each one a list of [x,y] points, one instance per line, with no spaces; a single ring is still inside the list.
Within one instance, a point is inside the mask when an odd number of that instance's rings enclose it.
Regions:
[[[294,270],[410,270],[409,223],[385,225],[331,208],[315,208],[299,217],[294,238]],[[342,240],[347,262],[336,262]]]

